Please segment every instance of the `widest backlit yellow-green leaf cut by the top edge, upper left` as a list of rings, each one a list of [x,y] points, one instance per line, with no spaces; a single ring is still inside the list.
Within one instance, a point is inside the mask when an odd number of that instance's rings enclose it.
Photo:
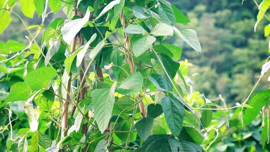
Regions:
[[[19,0],[20,9],[22,13],[30,18],[33,18],[35,10],[34,0]]]

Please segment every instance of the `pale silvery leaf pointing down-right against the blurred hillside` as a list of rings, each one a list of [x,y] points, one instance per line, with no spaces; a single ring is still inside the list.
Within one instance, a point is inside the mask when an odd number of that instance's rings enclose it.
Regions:
[[[189,46],[191,46],[195,51],[200,52],[201,47],[198,41],[197,33],[193,29],[181,29],[178,30],[173,27],[174,32],[180,38],[182,38]]]

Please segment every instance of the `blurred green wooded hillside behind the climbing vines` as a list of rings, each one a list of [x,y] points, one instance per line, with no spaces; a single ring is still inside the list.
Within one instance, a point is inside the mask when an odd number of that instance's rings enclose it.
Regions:
[[[176,25],[178,28],[192,28],[197,31],[202,51],[197,54],[191,47],[176,37],[167,42],[182,48],[181,60],[192,63],[189,67],[194,90],[204,93],[207,98],[221,94],[226,102],[240,102],[250,92],[260,75],[261,65],[268,56],[268,41],[263,35],[262,20],[256,32],[253,26],[257,8],[252,0],[169,0],[186,14],[191,23]],[[22,15],[19,3],[13,11],[20,14],[28,24],[40,24],[41,17],[33,19]],[[50,14],[45,26],[53,17],[64,16],[58,12]],[[28,43],[27,31],[18,17],[13,16],[8,28],[0,35],[1,41],[10,39]],[[41,35],[37,38],[40,41]],[[256,91],[268,88],[267,76],[261,80]]]

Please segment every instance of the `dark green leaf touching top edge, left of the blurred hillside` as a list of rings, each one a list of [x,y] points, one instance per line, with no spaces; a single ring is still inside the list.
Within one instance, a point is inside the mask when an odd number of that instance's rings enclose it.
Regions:
[[[155,11],[159,14],[159,16],[165,20],[167,20],[170,25],[175,23],[175,15],[174,11],[171,8],[171,4],[166,0],[156,0],[160,4],[155,8]]]

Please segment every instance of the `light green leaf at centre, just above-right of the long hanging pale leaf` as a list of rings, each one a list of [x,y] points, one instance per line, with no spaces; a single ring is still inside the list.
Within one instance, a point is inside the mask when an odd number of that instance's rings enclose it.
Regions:
[[[133,94],[141,89],[142,83],[143,77],[140,72],[136,71],[133,74],[127,76],[119,88],[116,89],[116,91],[122,94]]]

